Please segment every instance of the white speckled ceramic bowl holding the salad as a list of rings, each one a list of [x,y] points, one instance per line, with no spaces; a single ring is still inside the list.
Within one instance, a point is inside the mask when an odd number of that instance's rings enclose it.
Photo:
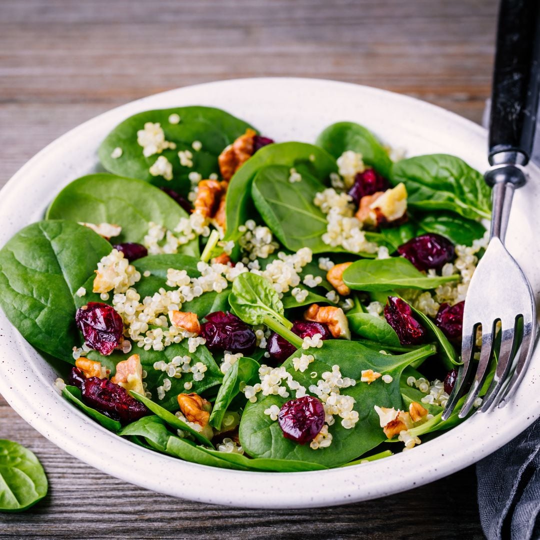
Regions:
[[[482,171],[486,132],[480,126],[394,93],[326,80],[244,79],[191,86],[140,99],[86,122],[33,157],[0,194],[0,245],[43,216],[71,180],[97,170],[97,148],[119,122],[147,109],[212,105],[278,141],[312,143],[323,127],[352,120],[408,156],[447,152]],[[508,231],[510,251],[540,288],[540,173],[518,190]],[[536,237],[535,237],[536,233]],[[489,292],[488,292],[489,294]],[[140,448],[98,426],[53,388],[56,373],[0,310],[0,393],[27,422],[70,454],[107,474],[154,491],[244,507],[305,508],[392,494],[453,473],[510,441],[540,413],[538,351],[514,401],[413,451],[369,464],[309,473],[246,473],[186,463]]]

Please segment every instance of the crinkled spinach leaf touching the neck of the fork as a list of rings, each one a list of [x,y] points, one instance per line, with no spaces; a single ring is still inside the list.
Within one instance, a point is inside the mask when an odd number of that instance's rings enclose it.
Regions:
[[[390,180],[405,184],[412,208],[450,210],[469,219],[491,217],[491,190],[484,177],[455,156],[430,154],[397,161]]]

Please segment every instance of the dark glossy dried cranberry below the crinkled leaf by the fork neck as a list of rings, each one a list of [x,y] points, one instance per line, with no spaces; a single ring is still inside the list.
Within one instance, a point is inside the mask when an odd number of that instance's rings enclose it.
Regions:
[[[419,270],[440,270],[454,259],[454,244],[440,234],[422,234],[397,248],[397,252]]]

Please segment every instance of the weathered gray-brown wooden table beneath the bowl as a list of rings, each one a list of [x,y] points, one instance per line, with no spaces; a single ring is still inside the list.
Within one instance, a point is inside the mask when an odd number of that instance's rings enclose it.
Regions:
[[[300,76],[378,86],[480,122],[494,0],[1,0],[0,186],[96,114],[210,80]],[[58,419],[59,422],[62,419]],[[0,438],[30,447],[49,495],[1,514],[2,538],[482,538],[473,468],[339,508],[246,510],[180,501],[59,450],[0,397]]]

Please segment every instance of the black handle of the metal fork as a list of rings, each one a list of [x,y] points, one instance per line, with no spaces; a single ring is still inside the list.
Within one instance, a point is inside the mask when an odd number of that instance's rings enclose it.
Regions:
[[[539,91],[540,0],[502,0],[489,124],[491,165],[528,163]]]

